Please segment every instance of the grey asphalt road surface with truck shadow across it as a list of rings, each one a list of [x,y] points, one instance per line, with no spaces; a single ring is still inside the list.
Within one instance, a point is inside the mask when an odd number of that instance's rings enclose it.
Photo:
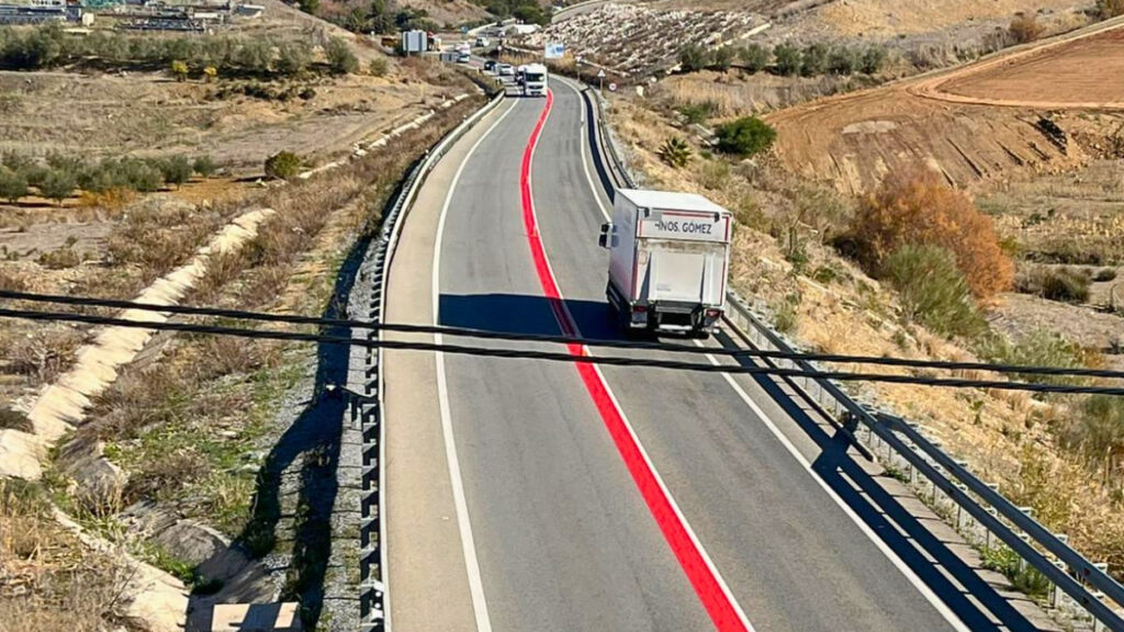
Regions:
[[[610,337],[597,247],[608,201],[587,174],[581,99],[553,89],[531,168],[538,237],[581,333]],[[559,333],[519,188],[545,100],[510,101],[424,188],[391,268],[389,320]],[[574,367],[390,352],[386,371],[396,632],[715,628]],[[827,467],[832,444],[768,385],[640,368],[604,379],[754,629],[968,629],[942,599],[972,629],[986,623],[870,511],[854,472]]]

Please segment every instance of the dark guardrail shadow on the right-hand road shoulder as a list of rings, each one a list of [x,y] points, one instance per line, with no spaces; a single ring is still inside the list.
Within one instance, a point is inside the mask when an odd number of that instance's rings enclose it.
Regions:
[[[724,346],[735,346],[726,335],[718,336]],[[740,358],[745,367],[756,365],[752,359]],[[917,520],[898,499],[888,493],[847,453],[851,443],[847,436],[836,431],[828,433],[816,423],[781,386],[769,376],[752,376],[752,379],[788,414],[800,430],[819,448],[821,453],[812,463],[812,469],[836,495],[901,559],[921,580],[955,615],[973,631],[1006,630],[1009,632],[1033,632],[1032,624],[1003,595],[980,577],[976,569],[964,562],[941,539]],[[891,524],[896,524],[905,533]],[[924,553],[932,557],[926,559]],[[942,570],[943,569],[943,572]],[[945,576],[951,575],[963,587],[954,585]],[[966,594],[967,593],[967,594]],[[969,598],[971,595],[972,598]],[[979,604],[973,603],[973,601]],[[986,608],[998,621],[988,616]]]

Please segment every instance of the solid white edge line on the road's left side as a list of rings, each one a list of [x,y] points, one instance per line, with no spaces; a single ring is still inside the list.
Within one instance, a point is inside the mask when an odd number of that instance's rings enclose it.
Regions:
[[[445,217],[448,215],[448,206],[453,201],[456,192],[456,184],[461,180],[464,168],[469,164],[477,148],[488,136],[499,126],[507,115],[515,109],[517,101],[500,115],[490,127],[473,143],[464,160],[461,161],[453,181],[448,184],[448,192],[445,195],[445,202],[441,207],[441,215],[437,219],[437,233],[434,237],[433,251],[433,324],[441,322],[441,246],[445,235]],[[435,344],[444,343],[444,335],[436,333],[433,336]],[[456,524],[461,532],[461,549],[464,554],[464,567],[469,576],[469,593],[472,596],[472,612],[475,616],[477,630],[479,632],[491,632],[491,620],[488,616],[488,602],[484,599],[483,579],[480,577],[480,565],[477,560],[477,545],[472,538],[472,524],[469,520],[469,506],[464,500],[464,481],[461,479],[461,464],[456,458],[456,443],[453,436],[453,418],[448,406],[448,383],[445,378],[445,354],[441,351],[435,353],[437,367],[437,399],[441,407],[441,428],[445,441],[445,459],[448,463],[448,478],[453,487],[453,504],[456,508]]]

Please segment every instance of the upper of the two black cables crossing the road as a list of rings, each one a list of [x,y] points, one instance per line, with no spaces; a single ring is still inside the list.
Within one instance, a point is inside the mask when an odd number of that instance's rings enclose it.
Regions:
[[[990,371],[996,373],[1016,373],[1027,376],[1059,376],[1059,377],[1087,377],[1124,379],[1124,371],[1113,371],[1107,369],[1086,369],[1069,367],[1031,367],[1021,364],[992,364],[987,362],[950,362],[943,360],[908,360],[904,358],[881,358],[877,355],[845,355],[839,353],[799,353],[787,351],[764,351],[745,349],[723,349],[688,346],[685,344],[651,343],[638,341],[618,341],[604,338],[583,338],[563,335],[545,334],[518,334],[509,332],[490,332],[466,327],[451,327],[444,325],[408,325],[396,323],[372,323],[369,320],[350,320],[343,318],[319,318],[314,316],[289,316],[281,314],[264,314],[260,312],[245,312],[239,309],[216,309],[210,307],[190,307],[179,305],[156,305],[151,303],[136,303],[129,300],[101,299],[89,297],[72,297],[58,295],[39,295],[30,292],[17,292],[0,290],[0,298],[11,300],[25,300],[29,303],[49,303],[61,305],[74,305],[83,307],[111,307],[117,309],[137,309],[146,312],[162,312],[166,314],[180,314],[191,316],[212,316],[219,318],[234,318],[239,320],[257,320],[264,323],[283,323],[291,325],[316,325],[320,327],[351,327],[356,329],[371,329],[399,333],[419,334],[444,334],[450,336],[475,337],[486,340],[504,340],[516,342],[544,342],[559,344],[581,344],[586,346],[601,346],[607,349],[635,349],[647,351],[662,351],[668,353],[710,353],[714,355],[725,355],[731,358],[761,358],[771,360],[794,360],[812,362],[836,362],[854,364],[876,364],[883,367],[904,367],[909,369],[942,369],[962,371]]]

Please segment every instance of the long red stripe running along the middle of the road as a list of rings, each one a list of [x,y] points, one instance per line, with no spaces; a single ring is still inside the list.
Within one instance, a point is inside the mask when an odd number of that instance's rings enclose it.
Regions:
[[[535,272],[538,276],[538,282],[543,288],[543,294],[551,303],[554,318],[558,320],[559,327],[564,335],[577,337],[580,336],[578,325],[562,301],[562,292],[559,291],[554,272],[551,270],[550,260],[546,258],[546,250],[543,247],[543,241],[538,235],[538,224],[535,220],[535,205],[531,195],[531,160],[534,156],[535,147],[538,144],[538,136],[543,130],[546,117],[550,115],[553,105],[554,93],[547,91],[546,105],[543,107],[542,114],[538,115],[538,121],[535,124],[535,128],[527,139],[527,146],[523,152],[523,164],[519,172],[519,188],[523,199],[523,225],[527,232],[527,244],[531,247],[531,258],[535,265]],[[586,355],[588,353],[588,350],[579,344],[568,344],[566,349],[572,355]],[[577,364],[575,367],[582,382],[586,385],[586,390],[589,392],[593,405],[597,407],[597,412],[601,416],[601,421],[605,423],[606,430],[609,431],[609,435],[613,437],[613,442],[620,453],[620,458],[624,459],[625,466],[633,477],[633,481],[636,484],[637,489],[640,489],[644,503],[647,505],[649,511],[652,512],[652,517],[655,518],[660,531],[663,532],[664,540],[671,547],[676,559],[679,560],[679,566],[683,569],[688,580],[690,580],[696,595],[703,602],[703,606],[706,608],[707,614],[710,615],[710,621],[714,622],[715,628],[722,632],[745,632],[752,630],[749,626],[749,622],[742,619],[737,606],[733,603],[729,595],[727,595],[720,579],[716,576],[710,565],[707,563],[703,551],[691,538],[688,526],[679,515],[679,512],[676,511],[671,498],[660,484],[655,471],[653,471],[644,455],[643,449],[631,432],[624,414],[617,407],[608,386],[597,371],[597,368],[593,364]]]

